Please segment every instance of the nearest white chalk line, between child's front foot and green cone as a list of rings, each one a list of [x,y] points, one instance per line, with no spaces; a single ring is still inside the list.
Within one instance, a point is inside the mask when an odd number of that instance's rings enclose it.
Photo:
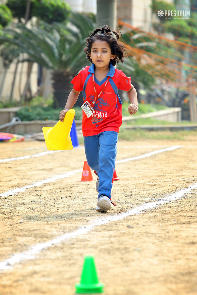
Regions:
[[[24,252],[24,253],[19,253],[13,255],[11,258],[8,258],[7,260],[0,262],[0,270],[6,270],[12,268],[12,266],[15,263],[18,263],[22,260],[27,260],[27,259],[34,259],[35,255],[38,254],[41,250],[46,249],[48,247],[51,247],[52,245],[58,244],[64,240],[68,240],[70,238],[77,237],[79,235],[84,235],[90,232],[95,226],[100,226],[102,224],[107,224],[112,221],[117,221],[121,220],[127,216],[131,215],[136,215],[136,214],[141,214],[144,211],[148,209],[154,209],[158,207],[159,205],[169,203],[171,201],[175,201],[177,199],[180,199],[183,197],[185,194],[187,194],[189,191],[197,189],[197,183],[189,186],[186,189],[181,189],[180,191],[175,192],[174,194],[170,194],[169,196],[166,196],[162,199],[159,199],[158,201],[155,202],[150,202],[150,203],[144,203],[141,206],[135,207],[133,209],[128,210],[127,212],[124,212],[122,214],[114,215],[114,216],[107,216],[104,218],[98,218],[95,219],[94,222],[92,222],[89,225],[86,225],[84,227],[79,228],[78,230],[74,232],[69,232],[65,235],[62,235],[60,237],[57,237],[56,239],[53,239],[51,241],[45,242],[45,243],[40,243],[35,246],[32,246],[29,251]]]

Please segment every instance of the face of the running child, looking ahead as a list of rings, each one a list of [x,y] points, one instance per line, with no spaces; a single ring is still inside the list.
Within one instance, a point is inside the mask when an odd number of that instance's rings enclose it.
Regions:
[[[115,55],[111,54],[111,48],[108,42],[95,40],[92,44],[91,53],[89,53],[93,63],[98,68],[106,68],[109,66],[110,59],[114,59]]]

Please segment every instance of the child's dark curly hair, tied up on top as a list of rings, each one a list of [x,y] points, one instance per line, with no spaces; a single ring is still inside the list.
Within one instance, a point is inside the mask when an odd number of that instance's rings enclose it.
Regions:
[[[100,31],[101,33],[98,33]],[[116,38],[112,36],[113,34]],[[95,40],[101,40],[108,42],[111,48],[111,54],[115,55],[115,58],[110,60],[111,64],[116,65],[119,63],[119,61],[123,63],[123,57],[126,57],[126,47],[122,42],[119,41],[120,34],[121,32],[119,30],[112,31],[107,25],[101,29],[98,28],[94,30],[90,37],[87,37],[86,39],[86,48],[84,49],[84,52],[86,53],[87,59],[93,63],[89,56],[89,53],[91,53],[92,44],[95,42]]]

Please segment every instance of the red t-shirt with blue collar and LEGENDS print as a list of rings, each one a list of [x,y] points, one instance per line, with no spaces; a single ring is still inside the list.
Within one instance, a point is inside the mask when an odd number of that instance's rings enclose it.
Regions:
[[[92,83],[92,73],[95,73],[95,65],[84,67],[71,81],[76,91],[82,91],[84,101],[90,103],[94,100],[94,88]],[[131,78],[114,68],[110,63],[109,82],[96,100],[93,107],[95,113],[90,118],[83,111],[82,132],[83,136],[97,135],[103,131],[119,132],[122,124],[122,102],[118,95],[118,89],[129,91],[131,88]],[[107,77],[99,82],[95,78],[97,94],[102,90]]]

